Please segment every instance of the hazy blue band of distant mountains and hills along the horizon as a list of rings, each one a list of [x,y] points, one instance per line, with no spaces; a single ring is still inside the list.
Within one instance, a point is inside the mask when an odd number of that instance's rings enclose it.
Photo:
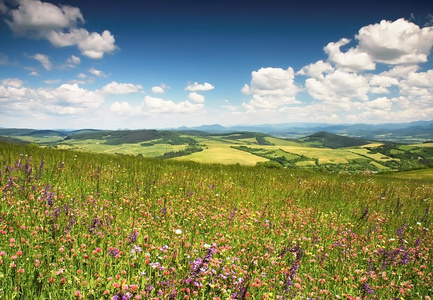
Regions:
[[[35,130],[0,128],[0,136],[16,137],[59,137],[66,139],[105,139],[108,143],[135,143],[152,139],[177,138],[180,132],[188,134],[227,134],[233,132],[255,132],[280,138],[302,138],[317,132],[328,132],[363,140],[380,140],[401,143],[421,143],[433,140],[433,120],[411,123],[388,124],[325,124],[325,123],[283,123],[261,125],[222,126],[219,124],[196,127],[182,126],[171,129],[143,130]],[[332,144],[332,143],[331,143]]]

